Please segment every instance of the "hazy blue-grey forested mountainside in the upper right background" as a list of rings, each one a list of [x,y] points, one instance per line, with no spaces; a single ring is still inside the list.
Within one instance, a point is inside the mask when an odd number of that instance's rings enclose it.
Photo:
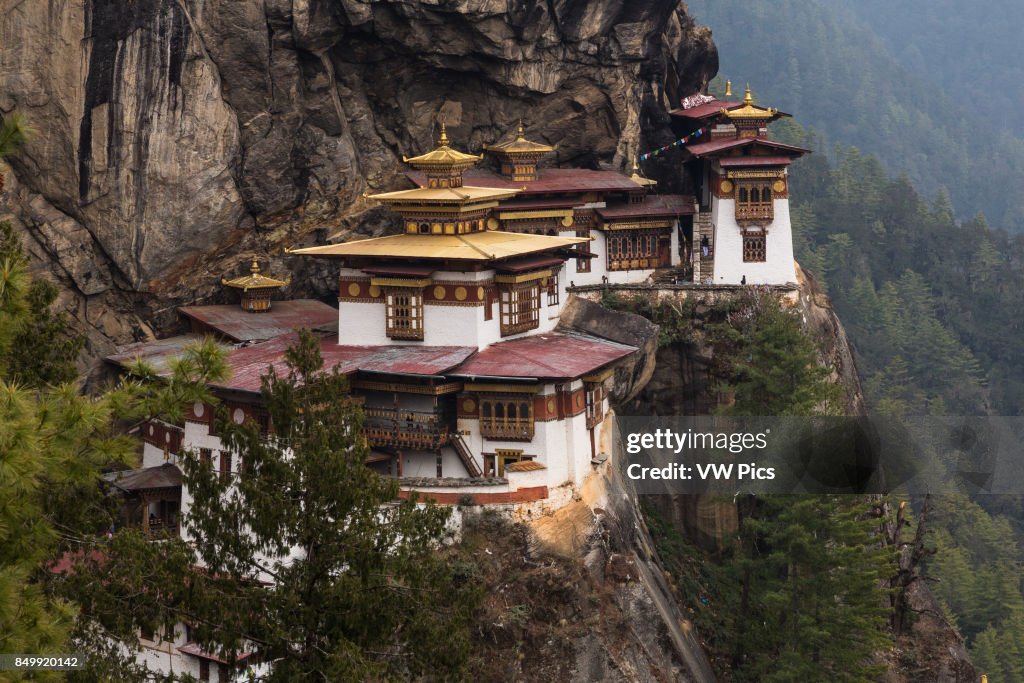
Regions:
[[[719,78],[732,79],[734,89],[751,83],[761,103],[793,114],[830,141],[877,155],[928,195],[945,188],[959,215],[984,211],[995,225],[1020,232],[1024,197],[1016,188],[1024,184],[1024,140],[1015,117],[1024,91],[1014,17],[1021,11],[1013,0],[996,4],[970,16],[953,0],[691,0],[687,6],[714,30]],[[989,28],[1004,59],[993,59]],[[952,44],[957,49],[948,49]],[[996,73],[1004,78],[992,87]]]

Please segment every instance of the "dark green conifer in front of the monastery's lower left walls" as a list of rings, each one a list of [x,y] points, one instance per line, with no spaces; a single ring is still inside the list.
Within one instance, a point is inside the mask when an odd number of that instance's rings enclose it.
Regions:
[[[218,367],[215,349],[191,356],[168,385],[178,400]],[[189,541],[116,535],[93,569],[102,582],[69,580],[83,609],[123,639],[187,622],[228,659],[255,647],[273,663],[268,680],[464,677],[478,596],[438,552],[451,511],[397,501],[397,482],[366,466],[361,409],[345,377],[324,371],[317,337],[301,332],[286,358],[286,376],[263,378],[269,438],[218,409],[231,476],[183,456]]]

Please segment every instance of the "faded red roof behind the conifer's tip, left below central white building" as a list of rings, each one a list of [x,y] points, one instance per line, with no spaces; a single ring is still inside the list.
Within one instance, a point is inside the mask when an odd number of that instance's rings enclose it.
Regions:
[[[295,343],[298,335],[282,335],[262,344],[254,344],[233,351],[227,358],[230,379],[218,386],[236,391],[258,392],[260,378],[272,366],[279,375],[286,374],[285,351]],[[472,346],[416,346],[395,344],[386,346],[339,346],[337,335],[321,340],[321,355],[326,370],[337,369],[349,375],[361,371],[392,375],[422,375],[432,377],[444,374],[476,351]]]

